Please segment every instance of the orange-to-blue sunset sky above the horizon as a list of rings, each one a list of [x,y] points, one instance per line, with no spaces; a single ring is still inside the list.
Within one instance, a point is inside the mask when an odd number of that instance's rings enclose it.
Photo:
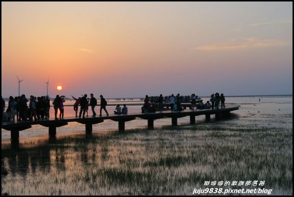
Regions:
[[[292,2],[1,2],[1,95],[293,94]],[[62,86],[58,91],[57,86]]]

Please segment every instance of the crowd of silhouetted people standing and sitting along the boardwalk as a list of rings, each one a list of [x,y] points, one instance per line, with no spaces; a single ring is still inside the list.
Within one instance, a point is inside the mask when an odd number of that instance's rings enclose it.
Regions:
[[[75,117],[77,118],[85,118],[88,117],[88,108],[91,106],[91,110],[93,112],[92,117],[96,117],[96,112],[95,112],[95,106],[97,105],[97,99],[94,97],[93,94],[90,94],[91,98],[87,98],[87,95],[85,94],[82,97],[79,98],[72,98],[75,100],[73,104],[73,110],[75,111]],[[56,98],[54,98],[52,104],[54,108],[54,116],[55,120],[63,120],[64,119],[64,105],[63,103],[65,102],[65,96],[59,96],[56,95]],[[162,94],[160,96],[152,96],[148,97],[146,95],[144,99],[144,105],[141,107],[142,113],[146,112],[156,112],[158,110],[160,113],[163,112],[163,103],[169,103],[171,107],[171,111],[178,111],[181,112],[183,108],[181,107],[182,102],[191,102],[191,109],[196,110],[196,109],[219,109],[220,108],[220,103],[221,103],[221,108],[225,108],[225,98],[223,94],[212,94],[209,100],[206,101],[204,104],[202,100],[196,101],[198,96],[195,94],[192,94],[191,96],[180,96],[180,94],[177,94],[175,97],[174,95],[170,96],[165,96],[163,97]],[[5,109],[5,101],[1,97],[2,100],[2,113],[1,116],[4,114],[4,109]],[[29,105],[27,106],[27,102],[29,102]],[[198,102],[198,103],[197,103]],[[105,98],[103,98],[102,95],[100,95],[100,114],[101,116],[102,109],[106,112],[106,115],[108,116],[108,112],[106,110],[106,105],[107,101]],[[80,111],[79,115],[78,113],[78,106],[80,106]],[[29,100],[25,98],[25,95],[22,95],[21,97],[15,97],[13,98],[12,96],[9,97],[8,101],[8,107],[5,113],[5,118],[4,121],[15,121],[15,116],[17,117],[18,122],[22,121],[44,121],[44,120],[49,120],[49,110],[50,110],[50,100],[49,96],[47,95],[46,97],[34,97],[30,96]],[[60,111],[59,113],[59,118],[57,118],[57,113],[58,110]],[[115,108],[114,114],[127,114],[128,110],[125,104],[123,104],[123,108],[118,104]],[[85,116],[86,114],[86,116]],[[2,117],[1,117],[2,119]],[[2,119],[3,120],[3,119]]]

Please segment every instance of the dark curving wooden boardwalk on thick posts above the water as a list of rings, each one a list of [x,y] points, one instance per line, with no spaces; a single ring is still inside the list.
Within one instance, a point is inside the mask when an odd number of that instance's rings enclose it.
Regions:
[[[2,122],[1,128],[10,131],[11,139],[18,140],[19,139],[19,131],[31,128],[32,125],[40,124],[42,126],[49,127],[49,136],[56,135],[56,127],[61,127],[67,125],[70,122],[78,122],[85,124],[86,133],[92,133],[92,125],[97,123],[102,123],[104,120],[112,120],[116,121],[119,124],[119,130],[124,130],[125,122],[135,120],[136,118],[141,118],[147,120],[148,129],[153,129],[154,120],[161,118],[172,118],[172,125],[177,125],[177,119],[190,116],[190,123],[195,123],[195,117],[199,115],[205,115],[205,119],[207,122],[210,121],[210,115],[215,114],[216,119],[218,119],[221,115],[228,115],[230,111],[238,110],[240,105],[234,104],[226,104],[225,108],[221,109],[197,109],[197,110],[183,110],[181,112],[172,112],[172,111],[163,111],[154,112],[154,113],[131,113],[126,115],[102,115],[99,117],[88,117],[88,118],[76,118],[76,117],[67,117],[64,120],[49,120],[49,121],[26,121],[26,122]]]

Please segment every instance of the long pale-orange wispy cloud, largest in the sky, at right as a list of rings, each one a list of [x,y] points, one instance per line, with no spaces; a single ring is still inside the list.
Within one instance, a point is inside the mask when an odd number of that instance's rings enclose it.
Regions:
[[[266,48],[266,47],[283,47],[290,45],[282,40],[259,40],[255,37],[242,38],[242,39],[231,39],[227,43],[217,45],[204,45],[199,46],[196,50],[213,51],[213,50],[235,50],[235,49],[251,49],[251,48]]]

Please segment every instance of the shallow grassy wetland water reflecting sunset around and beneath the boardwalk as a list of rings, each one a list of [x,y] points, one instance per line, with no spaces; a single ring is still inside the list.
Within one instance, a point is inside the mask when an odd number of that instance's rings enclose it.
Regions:
[[[292,195],[292,99],[226,98],[241,103],[229,119],[198,116],[190,125],[184,117],[175,127],[160,119],[154,130],[136,119],[118,133],[117,122],[105,121],[85,136],[83,124],[69,123],[49,139],[48,128],[33,125],[17,150],[2,129],[1,194],[192,195],[205,180],[265,180],[272,194]]]

